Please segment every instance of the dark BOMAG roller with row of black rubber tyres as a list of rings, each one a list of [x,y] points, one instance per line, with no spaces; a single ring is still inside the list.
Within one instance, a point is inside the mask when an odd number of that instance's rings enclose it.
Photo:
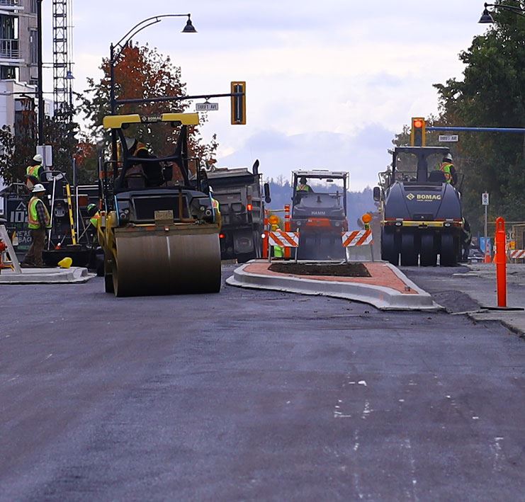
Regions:
[[[381,186],[373,190],[383,215],[383,260],[396,266],[436,266],[438,261],[456,266],[461,259],[461,193],[433,168],[448,153],[446,147],[394,149],[392,169],[380,173]]]

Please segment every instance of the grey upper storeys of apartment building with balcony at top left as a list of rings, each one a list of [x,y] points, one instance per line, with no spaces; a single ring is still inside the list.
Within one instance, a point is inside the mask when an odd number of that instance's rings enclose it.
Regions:
[[[37,0],[0,0],[0,80],[38,82]]]

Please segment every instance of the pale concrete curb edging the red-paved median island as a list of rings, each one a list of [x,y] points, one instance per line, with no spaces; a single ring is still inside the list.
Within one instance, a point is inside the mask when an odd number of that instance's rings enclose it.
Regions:
[[[324,281],[303,279],[297,277],[278,277],[248,273],[244,270],[249,263],[236,268],[226,283],[230,286],[248,287],[262,290],[276,290],[301,295],[321,295],[345,300],[354,300],[373,305],[381,310],[441,310],[443,307],[432,300],[431,295],[412,283],[405,274],[388,264],[397,277],[409,285],[418,295],[407,295],[390,287],[368,285],[363,283],[339,283],[337,281]]]

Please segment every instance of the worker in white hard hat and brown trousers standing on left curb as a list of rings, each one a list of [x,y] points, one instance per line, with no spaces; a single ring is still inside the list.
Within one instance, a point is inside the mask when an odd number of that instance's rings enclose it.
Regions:
[[[33,197],[28,205],[28,227],[31,233],[31,246],[23,259],[23,265],[41,267],[44,262],[42,251],[45,245],[45,231],[51,228],[51,217],[42,200],[45,188],[37,183],[33,188]]]

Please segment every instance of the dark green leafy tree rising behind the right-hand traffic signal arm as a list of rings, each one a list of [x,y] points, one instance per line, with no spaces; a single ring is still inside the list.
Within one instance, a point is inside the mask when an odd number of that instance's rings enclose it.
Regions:
[[[525,1],[502,1],[525,7]],[[438,125],[525,127],[525,18],[496,9],[495,25],[461,52],[463,80],[437,84]],[[480,223],[480,194],[491,195],[492,216],[525,219],[525,137],[461,133],[456,164],[465,173],[465,214]]]

